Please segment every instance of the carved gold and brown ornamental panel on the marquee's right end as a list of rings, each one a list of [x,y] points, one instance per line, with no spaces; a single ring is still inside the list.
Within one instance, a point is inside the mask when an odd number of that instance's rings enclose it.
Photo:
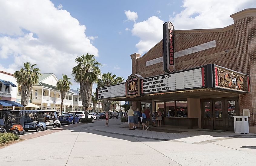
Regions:
[[[215,87],[250,92],[249,76],[214,65]]]

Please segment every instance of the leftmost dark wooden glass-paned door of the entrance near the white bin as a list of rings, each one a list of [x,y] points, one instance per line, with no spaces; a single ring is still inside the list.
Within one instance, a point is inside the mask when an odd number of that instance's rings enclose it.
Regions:
[[[202,129],[213,129],[212,100],[201,100]]]

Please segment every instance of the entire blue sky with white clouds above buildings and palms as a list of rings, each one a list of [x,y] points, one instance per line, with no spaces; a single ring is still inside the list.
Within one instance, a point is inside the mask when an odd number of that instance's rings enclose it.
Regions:
[[[0,1],[0,70],[13,73],[29,61],[71,77],[74,59],[89,52],[102,73],[126,79],[130,54],[157,44],[164,22],[175,30],[223,28],[233,23],[229,15],[255,7],[254,0]]]

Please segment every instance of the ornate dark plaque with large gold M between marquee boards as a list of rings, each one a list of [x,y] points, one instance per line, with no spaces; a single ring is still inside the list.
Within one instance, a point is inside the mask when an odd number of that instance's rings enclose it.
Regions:
[[[140,77],[136,74],[131,74],[126,80],[126,96],[127,97],[136,97],[140,96],[140,86],[139,86]]]

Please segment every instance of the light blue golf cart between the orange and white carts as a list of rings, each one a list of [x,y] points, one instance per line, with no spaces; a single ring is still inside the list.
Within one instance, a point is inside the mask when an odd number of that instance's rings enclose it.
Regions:
[[[37,132],[47,130],[45,124],[44,111],[39,110],[21,110],[21,124],[25,131],[36,130]]]

